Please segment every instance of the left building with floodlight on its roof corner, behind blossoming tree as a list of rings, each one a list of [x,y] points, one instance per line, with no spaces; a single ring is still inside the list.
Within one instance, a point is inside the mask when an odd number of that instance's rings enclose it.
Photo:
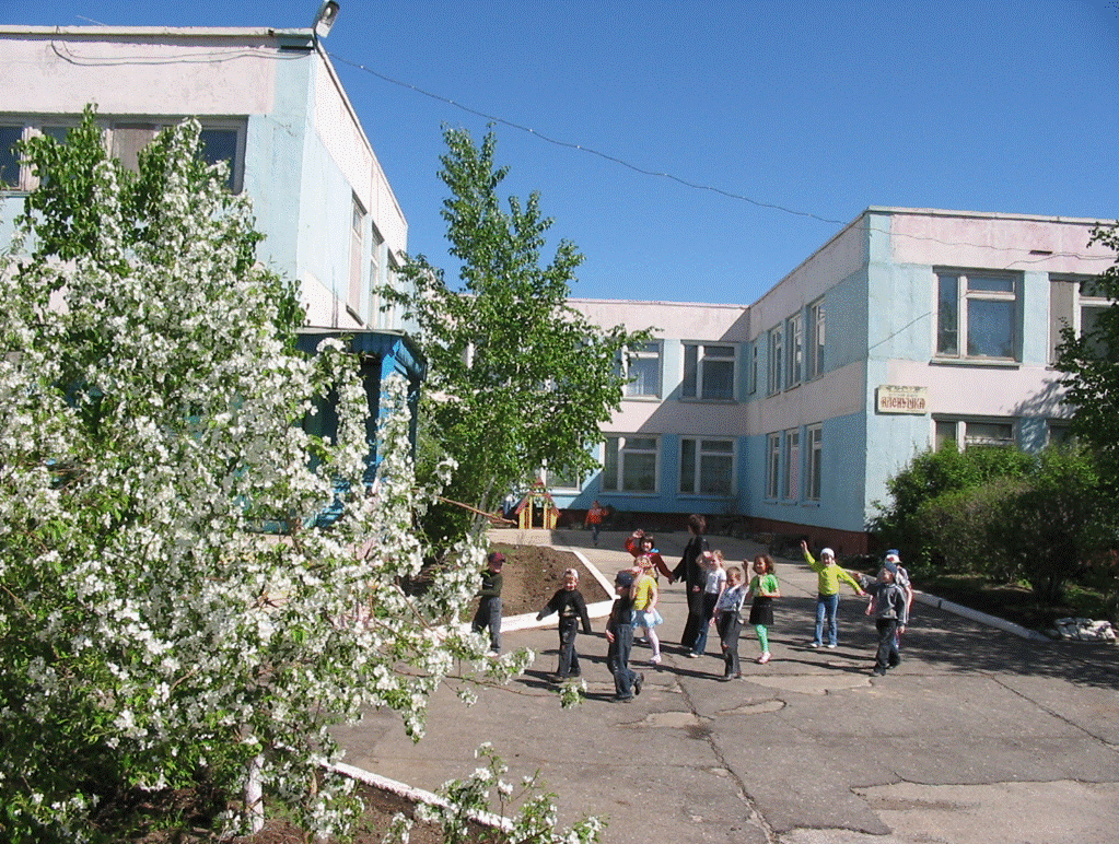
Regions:
[[[0,27],[0,244],[35,188],[20,139],[63,137],[94,104],[107,149],[134,167],[157,132],[197,117],[205,157],[253,200],[258,259],[299,282],[304,344],[345,333],[370,404],[391,372],[415,399],[423,360],[372,293],[393,282],[407,222],[312,30]]]

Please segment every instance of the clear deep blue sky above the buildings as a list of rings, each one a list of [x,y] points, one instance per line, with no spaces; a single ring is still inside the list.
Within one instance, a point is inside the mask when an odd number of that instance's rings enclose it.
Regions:
[[[303,28],[318,2],[0,0],[0,23]],[[505,192],[540,193],[582,297],[749,304],[868,206],[1119,217],[1119,0],[340,2],[325,45],[410,252],[445,267],[442,127],[495,118]]]

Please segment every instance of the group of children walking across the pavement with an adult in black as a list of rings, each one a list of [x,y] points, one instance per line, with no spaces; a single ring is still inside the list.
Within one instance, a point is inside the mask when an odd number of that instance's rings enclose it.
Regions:
[[[611,608],[606,623],[606,639],[610,644],[606,664],[614,677],[618,700],[632,700],[641,693],[645,675],[630,667],[630,655],[634,633],[640,630],[649,643],[653,666],[661,662],[660,637],[657,628],[664,618],[657,610],[660,598],[659,576],[668,582],[685,581],[688,597],[688,624],[681,645],[688,656],[698,657],[706,652],[708,628],[715,627],[723,655],[723,680],[742,677],[739,657],[739,639],[744,626],[753,627],[758,636],[760,655],[758,664],[764,665],[772,658],[769,645],[769,628],[773,625],[773,601],[781,597],[773,558],[759,554],[752,562],[752,577],[746,582],[743,568],[725,565],[723,553],[709,550],[704,533],[703,516],[689,519],[692,541],[685,549],[684,559],[675,570],[669,570],[651,533],[634,531],[626,540],[626,550],[633,556],[633,566],[619,571],[614,578],[618,598]],[[839,584],[848,584],[857,595],[871,596],[866,614],[874,618],[878,634],[873,673],[882,676],[901,662],[901,634],[909,620],[909,609],[913,600],[913,589],[908,572],[901,567],[896,551],[890,551],[877,577],[859,575],[856,580],[836,563],[835,553],[829,548],[820,551],[817,561],[808,550],[808,543],[800,543],[805,561],[817,573],[816,634],[809,647],[837,646],[837,608]],[[486,627],[491,632],[491,645],[496,652],[500,647],[493,616],[500,613],[500,598],[488,597],[496,591],[500,595],[501,554],[490,554],[482,589],[482,606],[474,619],[474,629]],[[493,580],[497,582],[493,584]],[[497,605],[496,607],[493,605]],[[747,609],[749,605],[749,609]],[[495,613],[496,609],[496,613]],[[567,569],[563,575],[563,587],[539,611],[537,619],[548,615],[560,615],[560,660],[553,680],[560,682],[581,675],[575,637],[580,627],[584,634],[591,633],[586,601],[579,591],[579,572]]]

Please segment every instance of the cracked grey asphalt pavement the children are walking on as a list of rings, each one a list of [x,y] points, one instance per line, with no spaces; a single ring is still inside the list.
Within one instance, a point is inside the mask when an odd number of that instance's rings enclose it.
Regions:
[[[629,562],[624,534],[504,531],[504,541],[581,552],[606,577]],[[686,532],[658,534],[670,566]],[[712,538],[728,561],[749,541]],[[427,737],[413,745],[395,715],[370,713],[339,733],[347,762],[434,790],[468,776],[490,741],[519,778],[540,772],[561,821],[609,818],[609,844],[1092,844],[1119,828],[1119,648],[1037,644],[925,606],[914,607],[904,662],[869,675],[875,644],[865,604],[840,604],[839,647],[815,651],[815,575],[778,561],[783,597],[773,660],[740,646],[743,681],[723,683],[717,641],[708,656],[677,647],[687,607],[665,588],[665,661],[646,687],[614,703],[602,619],[580,636],[586,700],[563,711],[547,673],[554,622],[509,632],[506,648],[532,647],[536,664],[466,708],[443,689]],[[554,616],[553,616],[554,619]],[[634,662],[648,658],[634,647]]]

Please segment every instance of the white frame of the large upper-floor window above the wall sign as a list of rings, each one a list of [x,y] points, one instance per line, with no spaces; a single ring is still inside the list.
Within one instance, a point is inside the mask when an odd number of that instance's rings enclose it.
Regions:
[[[1021,331],[1018,315],[1021,311],[1019,294],[1021,277],[1013,273],[979,269],[938,269],[937,278],[937,320],[935,320],[935,357],[949,360],[971,361],[1017,361],[1021,358]],[[980,286],[982,283],[1007,285],[1009,290],[991,290]],[[1008,304],[1010,309],[1009,354],[972,353],[970,325],[971,305],[984,303]],[[949,322],[948,306],[955,310],[953,326]],[[955,349],[947,342],[949,333],[955,333]]]

